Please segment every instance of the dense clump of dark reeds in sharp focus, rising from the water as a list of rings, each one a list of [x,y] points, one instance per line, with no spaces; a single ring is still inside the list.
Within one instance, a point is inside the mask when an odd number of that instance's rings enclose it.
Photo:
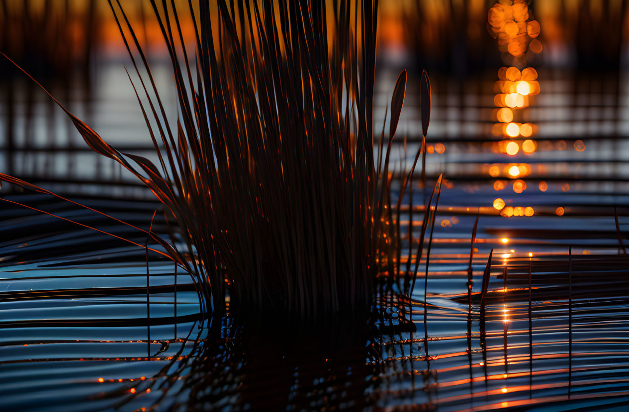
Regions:
[[[301,319],[369,308],[377,276],[399,274],[389,153],[406,91],[403,70],[376,161],[377,1],[335,1],[332,10],[305,0],[189,1],[183,10],[152,0],[177,89],[176,125],[124,8],[119,0],[109,5],[139,78],[130,81],[158,164],[119,152],[59,105],[89,147],[120,162],[165,205],[171,242],[148,237],[191,274],[204,313],[220,315],[226,300],[230,310]],[[194,24],[194,60],[181,13]],[[427,75],[422,82],[429,116]],[[420,259],[421,252],[413,283]]]

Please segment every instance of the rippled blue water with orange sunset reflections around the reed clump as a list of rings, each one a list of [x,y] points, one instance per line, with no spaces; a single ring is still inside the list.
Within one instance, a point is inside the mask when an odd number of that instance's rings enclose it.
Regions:
[[[396,61],[380,71],[376,130],[396,75],[408,63]],[[72,89],[71,106],[106,141],[150,157],[150,141],[121,62],[100,67],[89,92]],[[625,410],[629,84],[623,75],[538,72],[542,92],[523,114],[523,121],[538,127],[532,137],[537,150],[515,156],[491,143],[501,140],[491,135],[496,71],[469,82],[432,77],[428,143],[435,152],[427,157],[427,186],[440,173],[447,181],[438,206],[428,294],[423,296],[421,265],[412,296],[414,328],[384,308],[374,308],[377,322],[369,329],[339,320],[297,333],[272,319],[264,328],[237,325],[230,318],[202,320],[189,278],[177,274],[175,293],[172,264],[151,255],[148,321],[142,249],[0,205],[3,409]],[[167,84],[167,70],[156,66],[154,73]],[[403,134],[408,135],[408,167],[421,130],[413,92],[418,88],[413,75],[409,79],[400,144],[393,151],[398,171],[405,159]],[[172,102],[169,89],[164,90],[165,100]],[[18,98],[15,104],[16,147],[4,151],[0,169],[147,228],[159,207],[150,194],[112,162],[85,150],[60,111],[51,111],[40,93],[35,96],[34,103]],[[1,119],[6,130],[6,116]],[[3,139],[6,148],[6,133]],[[524,168],[510,175],[514,165]],[[518,183],[514,189],[518,181],[526,187]],[[417,238],[423,217],[423,206],[417,205],[425,203],[426,193],[415,183]],[[63,201],[19,193],[5,198],[145,242]],[[493,207],[496,198],[512,208],[533,208],[533,216],[500,216]],[[405,210],[403,232],[409,220]],[[470,305],[467,269],[477,216]],[[166,233],[160,221],[153,230]],[[492,276],[481,306],[481,279],[491,250]]]

